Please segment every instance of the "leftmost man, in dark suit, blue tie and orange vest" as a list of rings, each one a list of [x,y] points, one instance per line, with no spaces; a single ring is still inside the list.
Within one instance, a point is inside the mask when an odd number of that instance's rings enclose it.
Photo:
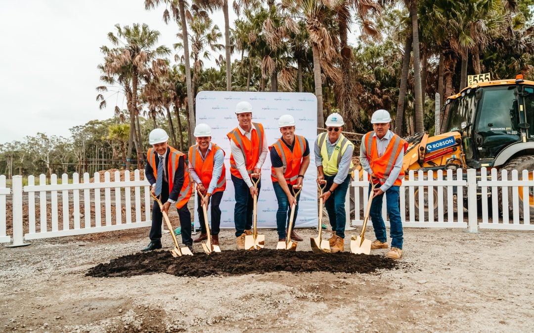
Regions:
[[[191,239],[191,213],[187,202],[191,197],[191,182],[185,165],[185,155],[169,146],[169,136],[164,129],[155,128],[148,135],[152,148],[146,155],[145,177],[152,185],[151,192],[163,203],[163,211],[168,213],[171,204],[178,210],[182,226],[182,242],[193,251]],[[161,248],[161,222],[163,214],[157,202],[152,207],[152,228],[150,244],[142,251]],[[172,230],[170,230],[172,232]]]

